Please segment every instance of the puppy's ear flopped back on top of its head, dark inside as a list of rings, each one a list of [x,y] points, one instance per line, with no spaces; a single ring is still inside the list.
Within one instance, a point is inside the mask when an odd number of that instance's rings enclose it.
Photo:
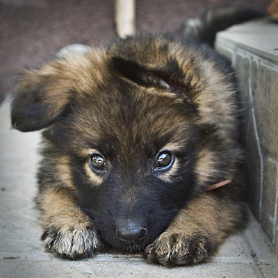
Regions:
[[[163,38],[126,37],[112,44],[107,56],[117,72],[138,85],[161,86],[189,98],[195,94],[192,76],[186,76],[171,43]]]

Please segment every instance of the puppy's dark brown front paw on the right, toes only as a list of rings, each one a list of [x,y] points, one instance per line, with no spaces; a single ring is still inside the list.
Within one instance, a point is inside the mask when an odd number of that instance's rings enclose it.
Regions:
[[[148,245],[145,257],[152,263],[186,265],[204,261],[214,251],[207,233],[183,234],[165,231]]]

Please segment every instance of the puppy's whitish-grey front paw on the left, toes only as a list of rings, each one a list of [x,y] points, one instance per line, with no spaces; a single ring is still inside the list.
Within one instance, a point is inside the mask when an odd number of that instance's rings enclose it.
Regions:
[[[97,232],[90,227],[60,227],[49,225],[42,234],[44,247],[49,252],[67,259],[83,259],[94,256],[101,249]]]

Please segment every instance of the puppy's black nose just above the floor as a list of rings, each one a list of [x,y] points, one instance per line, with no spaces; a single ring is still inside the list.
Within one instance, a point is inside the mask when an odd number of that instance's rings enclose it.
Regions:
[[[140,227],[140,224],[129,222],[126,225],[117,227],[116,236],[124,243],[137,243],[147,234],[147,229]]]

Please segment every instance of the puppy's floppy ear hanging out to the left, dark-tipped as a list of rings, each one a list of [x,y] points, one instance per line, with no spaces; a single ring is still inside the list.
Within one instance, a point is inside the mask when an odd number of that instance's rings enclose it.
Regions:
[[[54,123],[68,104],[72,82],[59,60],[40,70],[24,71],[18,81],[11,104],[15,129],[35,131]]]

